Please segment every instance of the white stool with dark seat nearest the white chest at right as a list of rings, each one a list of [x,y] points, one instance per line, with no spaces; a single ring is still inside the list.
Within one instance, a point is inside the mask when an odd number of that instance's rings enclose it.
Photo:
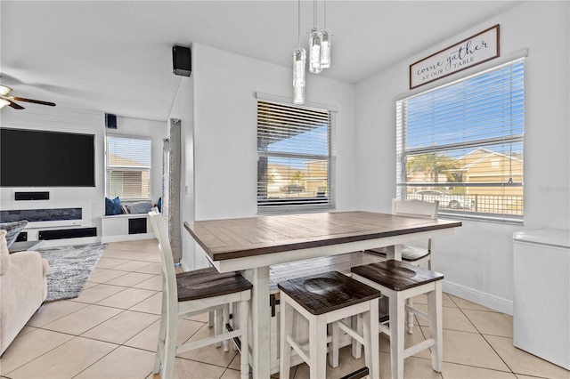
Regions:
[[[431,348],[432,367],[441,372],[443,361],[442,280],[444,275],[408,262],[385,261],[353,267],[353,278],[382,292],[389,302],[389,327],[379,331],[390,336],[392,378],[403,378],[403,359]],[[412,308],[406,300],[428,294],[428,313]],[[406,310],[429,320],[429,338],[404,349]]]

